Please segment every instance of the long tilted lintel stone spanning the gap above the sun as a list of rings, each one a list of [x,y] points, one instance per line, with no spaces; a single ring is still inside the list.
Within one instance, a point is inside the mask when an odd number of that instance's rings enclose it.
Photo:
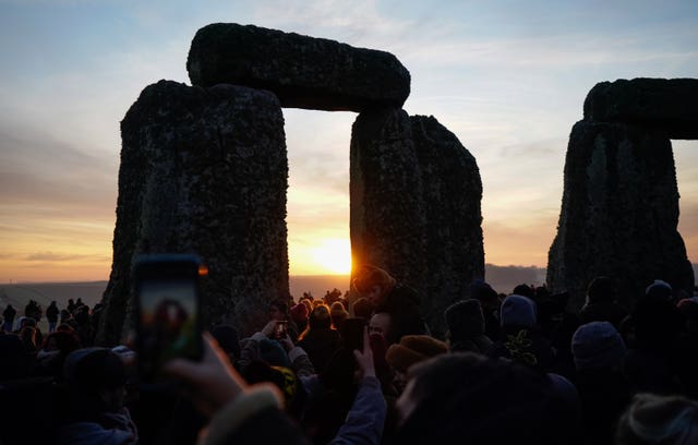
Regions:
[[[193,85],[269,89],[290,108],[399,108],[410,93],[409,72],[389,52],[233,23],[198,29],[186,69]]]

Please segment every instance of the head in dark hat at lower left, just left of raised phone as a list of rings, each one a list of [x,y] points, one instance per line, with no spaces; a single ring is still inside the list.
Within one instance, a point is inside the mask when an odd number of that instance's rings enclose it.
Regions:
[[[118,412],[123,407],[127,368],[110,349],[86,348],[71,352],[63,364],[63,377],[71,406],[80,414]]]

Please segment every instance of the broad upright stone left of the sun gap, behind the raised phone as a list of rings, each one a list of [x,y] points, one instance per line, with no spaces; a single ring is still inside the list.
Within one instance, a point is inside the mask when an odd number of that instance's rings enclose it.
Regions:
[[[208,266],[205,326],[248,334],[288,297],[284,118],[277,98],[219,85],[160,81],[121,122],[113,263],[98,336],[132,327],[131,268],[141,253],[196,253]]]

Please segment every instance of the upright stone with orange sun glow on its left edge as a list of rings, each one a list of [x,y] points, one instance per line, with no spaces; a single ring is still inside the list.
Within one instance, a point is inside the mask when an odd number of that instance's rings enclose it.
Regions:
[[[359,115],[351,131],[349,169],[354,267],[383,267],[423,294],[426,220],[407,112],[386,108]]]

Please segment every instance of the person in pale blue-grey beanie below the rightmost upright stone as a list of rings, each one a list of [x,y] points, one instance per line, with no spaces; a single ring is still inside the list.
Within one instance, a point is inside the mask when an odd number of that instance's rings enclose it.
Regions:
[[[630,387],[623,374],[625,342],[610,322],[591,322],[575,332],[571,352],[582,407],[583,443],[612,444],[618,417],[630,402]]]

